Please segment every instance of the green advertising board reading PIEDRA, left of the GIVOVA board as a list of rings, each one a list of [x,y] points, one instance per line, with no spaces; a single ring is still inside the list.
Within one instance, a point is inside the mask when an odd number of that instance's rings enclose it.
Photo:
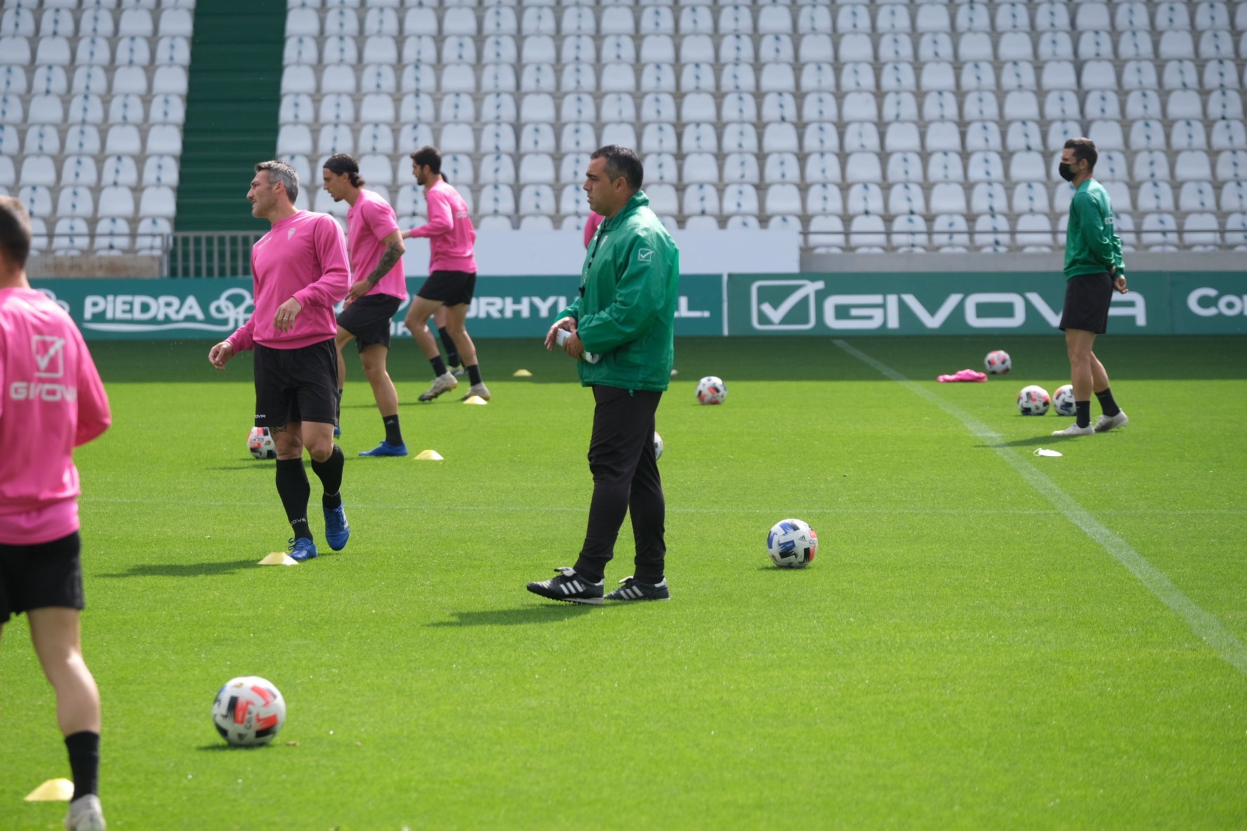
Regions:
[[[415,294],[423,278],[408,279]],[[116,340],[221,340],[252,313],[249,279],[45,279],[34,288],[70,313],[85,338]],[[579,277],[481,277],[468,310],[473,338],[544,338],[554,316],[576,297]],[[403,325],[407,303],[394,315],[392,333],[410,338]],[[722,275],[680,278],[677,335],[723,334]]]

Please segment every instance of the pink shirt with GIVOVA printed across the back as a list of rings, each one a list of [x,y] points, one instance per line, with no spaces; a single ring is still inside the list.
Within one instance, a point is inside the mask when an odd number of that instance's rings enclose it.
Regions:
[[[74,449],[112,422],[82,335],[41,292],[0,289],[0,543],[79,529]]]

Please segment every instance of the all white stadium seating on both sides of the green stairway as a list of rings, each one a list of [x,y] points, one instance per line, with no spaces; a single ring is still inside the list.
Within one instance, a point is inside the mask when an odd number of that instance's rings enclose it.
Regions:
[[[408,153],[436,143],[483,228],[580,228],[586,154],[616,142],[671,228],[1044,252],[1060,147],[1089,135],[1127,247],[1247,247],[1243,1],[287,6],[274,152],[301,207],[343,214],[315,182],[347,151],[418,222]],[[4,5],[0,189],[51,250],[151,250],[178,224],[193,29],[193,0]]]

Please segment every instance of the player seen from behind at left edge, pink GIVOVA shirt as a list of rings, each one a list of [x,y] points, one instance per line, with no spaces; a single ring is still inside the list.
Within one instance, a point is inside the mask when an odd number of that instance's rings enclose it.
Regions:
[[[97,831],[105,827],[100,691],[79,634],[85,601],[74,449],[107,430],[112,416],[77,326],[26,280],[30,239],[26,209],[0,197],[0,633],[26,613],[74,771],[65,827]]]

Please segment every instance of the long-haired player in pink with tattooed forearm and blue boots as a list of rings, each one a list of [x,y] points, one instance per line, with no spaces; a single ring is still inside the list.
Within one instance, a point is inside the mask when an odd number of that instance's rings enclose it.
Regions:
[[[354,280],[347,292],[347,308],[338,315],[338,416],[342,416],[342,385],[347,361],[342,349],[352,340],[359,349],[364,376],[373,387],[373,399],[382,411],[385,439],[360,456],[407,456],[398,421],[398,391],[385,369],[389,355],[390,318],[407,299],[403,273],[403,234],[394,208],[379,193],[364,189],[359,162],[350,153],[334,153],[320,171],[325,192],[334,202],[347,201],[347,248]]]

